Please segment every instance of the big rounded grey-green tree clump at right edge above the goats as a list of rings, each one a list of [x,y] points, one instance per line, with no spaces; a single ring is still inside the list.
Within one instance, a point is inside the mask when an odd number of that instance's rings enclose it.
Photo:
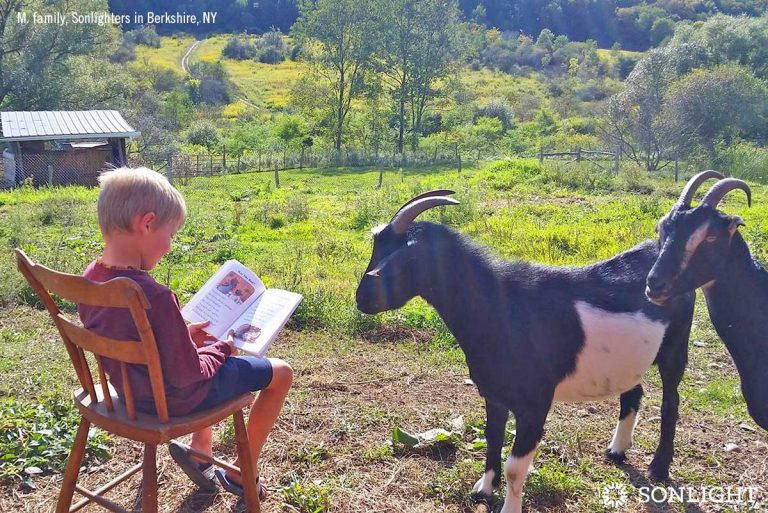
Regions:
[[[611,98],[606,135],[649,171],[696,144],[711,156],[718,140],[754,137],[748,126],[763,127],[764,85],[758,79],[768,78],[767,47],[766,18],[715,16],[701,25],[679,25],[669,43],[646,53],[625,90]],[[717,68],[723,64],[743,67]],[[702,71],[691,74],[697,69]]]

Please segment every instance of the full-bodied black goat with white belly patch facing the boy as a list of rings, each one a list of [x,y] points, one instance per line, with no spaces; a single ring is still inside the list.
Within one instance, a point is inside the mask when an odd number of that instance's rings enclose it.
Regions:
[[[429,208],[457,204],[446,197],[451,193],[417,196],[374,229],[373,255],[356,299],[362,312],[377,313],[421,296],[456,337],[486,402],[486,470],[473,493],[488,497],[500,483],[510,411],[517,434],[504,465],[502,513],[522,511],[523,483],[553,402],[620,395],[608,455],[623,459],[643,393],[640,382],[653,363],[664,392],[650,473],[666,478],[694,293],[664,306],[648,301],[645,278],[658,255],[651,241],[587,267],[548,267],[502,261],[446,226],[413,222]]]

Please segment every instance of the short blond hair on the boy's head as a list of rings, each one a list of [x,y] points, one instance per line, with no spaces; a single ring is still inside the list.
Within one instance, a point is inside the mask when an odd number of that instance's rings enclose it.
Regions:
[[[187,217],[184,198],[168,180],[146,167],[121,167],[99,176],[97,211],[102,234],[131,231],[131,222],[148,212],[155,213],[157,228],[170,223],[180,227]]]

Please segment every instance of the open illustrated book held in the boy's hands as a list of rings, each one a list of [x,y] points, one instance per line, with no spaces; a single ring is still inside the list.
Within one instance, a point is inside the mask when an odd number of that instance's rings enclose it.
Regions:
[[[235,345],[264,356],[301,303],[301,294],[267,289],[253,271],[228,260],[181,309],[190,322],[211,321],[205,330],[225,340],[235,331]]]

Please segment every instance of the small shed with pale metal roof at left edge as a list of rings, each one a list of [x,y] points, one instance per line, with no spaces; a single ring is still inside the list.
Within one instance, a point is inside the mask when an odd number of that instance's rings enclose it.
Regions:
[[[127,162],[126,139],[141,135],[116,110],[0,112],[6,186],[96,185]]]

